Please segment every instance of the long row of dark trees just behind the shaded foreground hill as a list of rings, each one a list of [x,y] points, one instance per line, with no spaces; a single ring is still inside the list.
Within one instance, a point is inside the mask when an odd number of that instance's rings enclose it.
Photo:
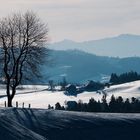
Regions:
[[[121,96],[115,98],[112,95],[110,102],[107,103],[106,96],[104,95],[101,101],[96,101],[94,98],[91,98],[88,103],[83,103],[81,100],[78,103],[68,101],[66,107],[56,103],[55,109],[83,112],[139,113],[140,101],[134,97],[131,100],[128,98],[124,100]]]

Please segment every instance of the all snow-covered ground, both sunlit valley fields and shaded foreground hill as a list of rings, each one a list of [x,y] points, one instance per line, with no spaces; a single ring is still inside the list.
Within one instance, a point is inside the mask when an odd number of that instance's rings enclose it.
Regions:
[[[77,97],[63,92],[47,91],[45,85],[24,85],[17,90],[13,100],[19,107],[2,108],[5,87],[0,85],[0,139],[4,140],[139,140],[140,114],[86,113],[46,110],[48,104],[65,101],[88,102],[91,97],[101,100],[102,94],[84,92]],[[109,101],[112,94],[123,98],[140,97],[140,81],[111,86],[104,89]],[[37,108],[37,109],[33,109]]]

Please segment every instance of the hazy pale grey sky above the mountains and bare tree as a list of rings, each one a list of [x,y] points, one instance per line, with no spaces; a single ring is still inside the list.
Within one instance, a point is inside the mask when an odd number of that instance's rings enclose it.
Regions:
[[[52,42],[140,34],[140,0],[0,0],[0,17],[26,10],[48,23]]]

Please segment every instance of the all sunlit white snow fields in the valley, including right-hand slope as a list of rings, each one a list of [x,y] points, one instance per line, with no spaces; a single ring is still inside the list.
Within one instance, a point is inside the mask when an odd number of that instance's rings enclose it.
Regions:
[[[51,92],[47,91],[48,87],[45,85],[26,85],[22,86],[17,90],[17,94],[13,100],[13,104],[18,101],[19,107],[24,102],[25,107],[31,104],[32,108],[47,108],[48,104],[54,106],[57,102],[64,105],[65,101],[78,101],[88,102],[90,98],[95,100],[101,100],[102,94],[96,92],[84,92],[79,94],[77,97],[66,96],[63,92]],[[125,98],[136,97],[140,98],[140,81],[130,82],[121,85],[111,86],[104,90],[107,93],[107,100],[110,100],[111,95],[122,96]],[[5,96],[4,86],[0,86],[0,107],[4,106],[4,102],[7,100]]]

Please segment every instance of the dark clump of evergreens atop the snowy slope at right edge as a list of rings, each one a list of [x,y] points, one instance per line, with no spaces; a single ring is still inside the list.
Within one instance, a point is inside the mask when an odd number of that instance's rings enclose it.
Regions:
[[[115,84],[132,82],[136,80],[140,80],[140,75],[137,72],[131,71],[120,75],[117,75],[116,73],[112,73],[110,78],[110,83],[115,85]]]

